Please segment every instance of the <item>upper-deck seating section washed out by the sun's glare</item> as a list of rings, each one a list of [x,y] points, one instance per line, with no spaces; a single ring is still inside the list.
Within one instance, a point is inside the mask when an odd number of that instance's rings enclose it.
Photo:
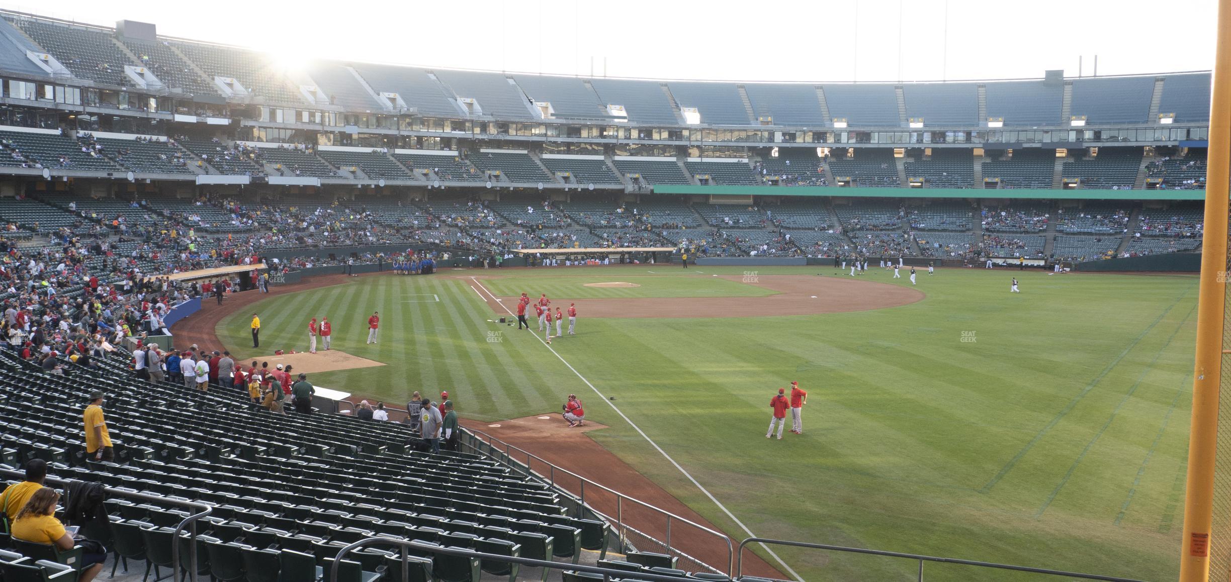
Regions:
[[[164,41],[212,78],[235,79],[244,90],[270,103],[304,105],[273,59],[252,50],[185,41]],[[211,79],[213,80],[213,79]]]

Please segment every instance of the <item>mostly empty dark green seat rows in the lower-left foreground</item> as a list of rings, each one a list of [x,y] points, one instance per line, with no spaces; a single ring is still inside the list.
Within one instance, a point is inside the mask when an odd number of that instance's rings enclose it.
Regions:
[[[549,486],[469,453],[411,452],[407,443],[420,439],[407,425],[272,415],[251,407],[238,390],[134,380],[127,357],[119,351],[98,362],[98,372],[71,370],[89,374],[90,388],[107,395],[108,425],[122,427],[122,437],[112,436],[117,463],[86,466],[81,380],[46,374],[9,353],[0,354],[2,445],[18,459],[54,454],[66,463],[49,468],[55,479],[209,506],[196,539],[203,578],[311,581],[341,546],[378,534],[574,564],[582,548],[606,550],[608,525],[571,517]],[[92,539],[144,549],[129,564],[161,562],[175,576],[171,546],[192,544],[172,536],[187,516],[182,507],[108,496],[103,511],[110,524]],[[411,580],[471,580],[480,570],[473,559],[411,555]],[[385,566],[398,577],[396,556],[384,549],[352,554],[351,566],[368,572],[355,580],[375,580]]]

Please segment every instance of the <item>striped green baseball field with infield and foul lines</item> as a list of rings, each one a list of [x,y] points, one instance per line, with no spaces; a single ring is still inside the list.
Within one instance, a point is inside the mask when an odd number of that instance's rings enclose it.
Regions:
[[[244,358],[303,351],[308,319],[329,316],[335,351],[383,365],[295,367],[316,385],[393,406],[448,390],[471,421],[558,412],[577,394],[608,427],[583,438],[735,539],[1173,577],[1197,278],[907,277],[661,265],[374,274],[261,300],[217,335]],[[496,322],[522,292],[576,303],[577,335],[548,346]],[[368,345],[373,311],[380,337]],[[792,380],[809,393],[804,433],[767,439],[769,399]],[[804,580],[915,580],[918,567],[778,548],[783,565],[757,551]]]

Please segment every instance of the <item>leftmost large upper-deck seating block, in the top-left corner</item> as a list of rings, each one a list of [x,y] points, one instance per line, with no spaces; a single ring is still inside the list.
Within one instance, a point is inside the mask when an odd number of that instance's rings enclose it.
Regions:
[[[12,15],[5,15],[5,20],[55,57],[74,76],[106,85],[132,85],[124,74],[124,65],[137,63],[116,46],[111,31]]]

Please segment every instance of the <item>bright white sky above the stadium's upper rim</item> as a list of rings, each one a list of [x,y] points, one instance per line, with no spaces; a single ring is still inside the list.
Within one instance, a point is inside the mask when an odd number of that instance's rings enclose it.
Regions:
[[[1209,69],[1215,0],[44,0],[0,6],[335,58],[564,75],[776,81]],[[948,26],[945,26],[948,23]],[[948,33],[945,32],[948,28]],[[899,39],[901,42],[899,42]],[[947,55],[947,57],[945,57]]]

